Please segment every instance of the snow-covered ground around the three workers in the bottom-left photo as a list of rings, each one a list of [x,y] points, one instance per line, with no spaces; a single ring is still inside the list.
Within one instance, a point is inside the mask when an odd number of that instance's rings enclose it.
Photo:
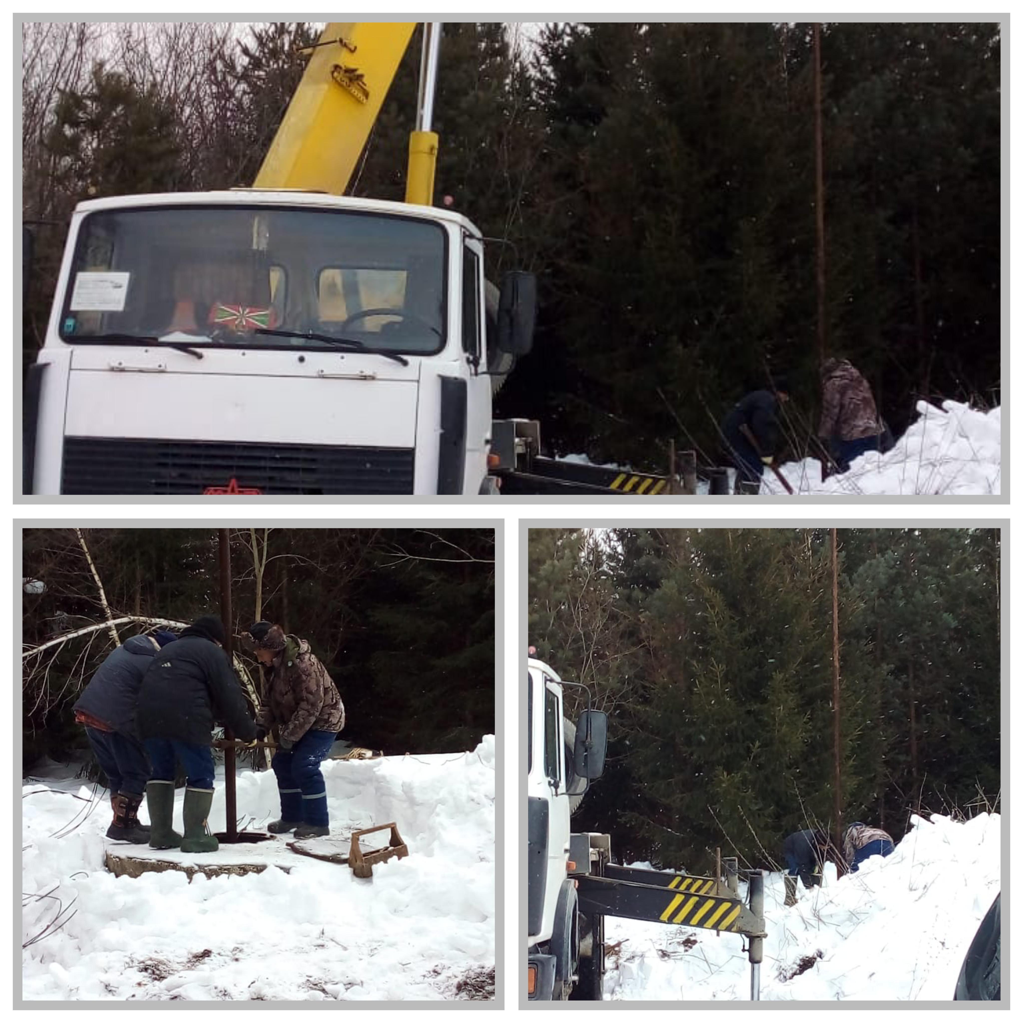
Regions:
[[[301,856],[288,874],[116,878],[104,846],[131,846],[103,836],[106,791],[41,773],[23,789],[23,942],[63,926],[25,948],[26,999],[493,997],[492,736],[471,753],[323,764],[333,833],[395,820],[408,844],[365,881]],[[244,827],[276,818],[272,772],[240,773],[237,805]],[[211,828],[224,819],[220,777]]]

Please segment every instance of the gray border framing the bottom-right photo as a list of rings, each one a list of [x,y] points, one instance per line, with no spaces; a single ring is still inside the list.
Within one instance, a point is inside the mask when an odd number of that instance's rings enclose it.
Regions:
[[[1002,896],[1003,904],[1006,907],[1005,911],[1007,914],[1007,919],[1012,919],[1009,916],[1009,905],[1010,905],[1010,874],[1011,874],[1011,860],[1010,860],[1010,834],[1011,834],[1011,817],[1010,817],[1010,788],[1011,788],[1011,774],[1010,774],[1010,756],[1009,756],[1009,744],[1006,742],[1006,731],[1010,722],[1010,700],[1009,700],[1009,628],[1010,628],[1010,586],[1009,577],[1010,571],[1009,567],[1012,562],[1010,559],[1010,521],[1008,519],[990,519],[990,520],[974,520],[972,522],[964,521],[962,519],[958,520],[935,520],[923,522],[914,522],[913,520],[893,520],[885,519],[883,521],[863,521],[856,522],[855,520],[842,519],[839,521],[835,520],[825,520],[821,521],[820,516],[816,517],[815,522],[807,521],[796,521],[796,520],[779,520],[771,521],[768,524],[763,522],[756,522],[752,519],[728,519],[724,521],[711,521],[711,520],[694,520],[679,522],[675,521],[663,521],[654,519],[640,519],[640,520],[630,520],[627,518],[609,520],[607,517],[602,516],[599,518],[586,518],[584,520],[580,519],[528,519],[520,520],[519,522],[519,543],[520,543],[520,557],[519,557],[519,633],[516,636],[516,642],[519,647],[519,657],[516,659],[518,678],[522,677],[523,670],[527,667],[527,648],[528,648],[528,595],[529,595],[529,563],[528,563],[528,552],[529,552],[529,531],[530,529],[621,529],[627,527],[635,528],[661,528],[661,529],[807,529],[807,528],[820,528],[827,526],[836,529],[862,529],[862,528],[880,528],[880,529],[997,529],[1002,532],[1002,608],[1000,608],[1000,634],[1002,634],[1002,671],[999,684],[1002,686],[1002,722],[1000,722],[1000,748],[1002,748]],[[558,665],[551,665],[554,670],[558,669]],[[518,813],[518,824],[519,824],[519,843],[520,852],[522,843],[525,841],[525,836],[527,833],[527,821],[526,821],[526,774],[522,769],[521,765],[526,763],[526,730],[525,722],[527,720],[527,707],[526,707],[526,692],[524,688],[520,687],[519,700],[517,702],[518,718],[519,718],[519,735],[518,735],[518,752],[519,752],[519,813]],[[519,931],[518,931],[518,941],[519,949],[518,955],[516,957],[516,978],[518,983],[515,985],[515,990],[518,993],[518,1007],[523,1010],[543,1010],[551,1009],[550,1003],[530,1003],[526,992],[525,985],[522,980],[526,976],[527,970],[527,960],[528,950],[526,947],[526,942],[523,935],[527,934],[527,921],[526,921],[526,889],[528,886],[526,877],[526,857],[524,855],[519,856]],[[1008,1010],[1012,1004],[1011,1002],[1011,975],[1012,971],[1009,967],[1009,963],[1012,962],[1011,959],[1011,937],[1010,937],[1010,927],[1008,925],[1003,925],[1003,944],[1009,949],[1008,953],[1003,954],[1003,969],[1002,969],[1002,989],[1003,995],[1002,1000],[994,1002],[952,1002],[951,992],[954,989],[954,979],[949,981],[949,1000],[948,1002],[866,1002],[866,1000],[847,1000],[847,1002],[760,1002],[755,1006],[755,1011],[781,1011],[790,1012],[793,1009],[803,1010],[813,1010],[813,1009],[846,1009],[846,1010],[862,1010],[862,1009],[904,1009],[904,1010],[915,1010],[915,1009],[944,1009],[959,1012],[975,1012],[978,1010],[988,1011],[988,1012],[998,1012],[1000,1010]],[[514,997],[514,995],[513,995]],[[572,1003],[562,1003],[561,1008],[566,1011],[590,1011],[590,1010],[646,1010],[646,1009],[723,1009],[723,1010],[737,1010],[744,1006],[748,1006],[751,1009],[754,1008],[754,1004],[750,1002],[639,1002],[639,1000],[614,1000],[614,1002],[572,1002]]]

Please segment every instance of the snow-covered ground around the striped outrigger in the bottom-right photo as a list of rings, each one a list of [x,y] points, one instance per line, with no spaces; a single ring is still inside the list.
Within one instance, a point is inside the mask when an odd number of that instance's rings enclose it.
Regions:
[[[934,815],[914,817],[890,856],[869,859],[856,874],[838,880],[829,863],[821,887],[799,886],[795,906],[784,905],[783,875],[768,875],[761,999],[951,1000],[998,893],[1000,861],[998,814],[966,824]],[[609,917],[606,936],[606,999],[750,997],[738,935]]]

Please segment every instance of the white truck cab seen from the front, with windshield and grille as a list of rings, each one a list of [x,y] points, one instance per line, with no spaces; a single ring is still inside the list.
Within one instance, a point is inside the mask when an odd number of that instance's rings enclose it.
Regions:
[[[531,282],[509,274],[488,317],[483,239],[450,210],[82,203],[26,387],[26,489],[487,492],[492,379],[528,350]]]

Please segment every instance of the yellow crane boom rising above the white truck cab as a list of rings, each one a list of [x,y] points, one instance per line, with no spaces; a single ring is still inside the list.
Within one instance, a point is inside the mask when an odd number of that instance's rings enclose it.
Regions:
[[[343,194],[414,29],[414,21],[329,23],[312,51],[255,186]],[[430,197],[417,196],[417,201],[432,201],[432,174],[430,192]]]

